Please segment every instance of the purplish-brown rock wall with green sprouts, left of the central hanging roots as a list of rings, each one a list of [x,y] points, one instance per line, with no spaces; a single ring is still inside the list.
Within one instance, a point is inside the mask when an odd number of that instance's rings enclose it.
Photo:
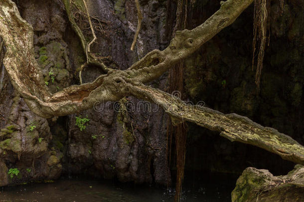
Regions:
[[[85,54],[69,25],[61,1],[15,2],[21,16],[33,26],[36,58],[50,91],[54,93],[79,84],[78,72],[85,62]],[[81,3],[75,1],[79,8],[83,6]],[[137,23],[133,15],[136,10],[134,2],[88,1],[98,37],[91,49],[104,56],[112,68],[126,69],[151,50],[163,48],[166,43],[162,39],[163,3],[149,1],[143,4],[145,25],[136,50],[132,52],[130,47]],[[75,18],[85,35],[90,37],[91,32],[86,32],[85,28],[87,19],[77,12]],[[166,163],[167,118],[162,110],[147,113],[147,109],[138,104],[139,100],[127,98],[139,110],[120,115],[118,103],[103,105],[101,100],[96,108],[81,114],[46,120],[29,111],[12,89],[3,67],[1,70],[4,79],[1,80],[0,104],[3,109],[0,119],[0,186],[56,179],[62,173],[116,178],[121,182],[170,183]],[[91,82],[102,73],[91,66],[83,71],[83,82]],[[164,88],[165,80],[159,79],[152,85]],[[153,105],[152,109],[155,107]],[[86,117],[88,121],[82,130],[76,120]],[[19,173],[10,177],[7,174],[13,169]]]

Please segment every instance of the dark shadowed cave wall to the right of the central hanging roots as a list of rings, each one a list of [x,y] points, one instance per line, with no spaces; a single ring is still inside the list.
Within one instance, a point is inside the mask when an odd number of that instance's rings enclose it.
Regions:
[[[212,7],[205,9],[208,17],[217,7],[212,6],[214,2],[205,2],[205,7]],[[303,8],[303,0],[286,0],[283,8],[278,0],[271,1],[269,45],[265,49],[259,93],[252,69],[251,5],[231,26],[185,61],[184,84],[189,100],[204,101],[207,107],[223,113],[247,116],[304,144]],[[281,175],[294,166],[272,153],[231,143],[194,124],[190,124],[187,141],[187,170],[197,175],[202,170],[239,175],[247,167],[269,169]]]

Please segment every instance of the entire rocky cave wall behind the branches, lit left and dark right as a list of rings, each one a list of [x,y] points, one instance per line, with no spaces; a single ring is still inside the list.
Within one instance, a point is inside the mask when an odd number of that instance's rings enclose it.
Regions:
[[[61,1],[15,2],[21,16],[33,26],[36,58],[50,91],[79,84],[79,68],[86,59]],[[75,2],[81,8],[81,1]],[[90,14],[100,20],[92,18],[98,39],[91,49],[105,57],[108,66],[126,69],[149,51],[167,46],[166,16],[172,12],[166,10],[167,1],[140,1],[144,19],[133,52],[130,47],[137,24],[134,1],[87,2]],[[175,1],[170,3],[174,11]],[[186,59],[185,92],[193,103],[204,101],[206,106],[223,113],[248,116],[303,144],[304,0],[287,0],[283,9],[278,1],[271,3],[270,46],[266,48],[260,93],[256,93],[252,70],[253,6]],[[218,8],[219,0],[196,0],[189,8],[189,28],[202,23]],[[75,18],[84,34],[92,37],[86,19],[79,13]],[[97,67],[88,67],[82,73],[83,82],[93,81],[102,73]],[[165,90],[166,74],[151,85]],[[0,95],[0,186],[55,179],[61,174],[170,183],[166,155],[168,117],[161,109],[147,113],[142,108],[121,114],[118,103],[98,103],[79,114],[46,120],[29,111],[14,92],[3,66]],[[125,100],[130,101],[136,106],[140,102],[133,97]],[[76,125],[80,117],[89,120],[84,130]],[[204,175],[205,171],[239,175],[248,166],[275,174],[293,167],[261,149],[230,143],[218,133],[188,126],[185,178],[188,174]],[[18,178],[7,177],[10,168],[18,168]],[[174,164],[170,169],[174,171]]]

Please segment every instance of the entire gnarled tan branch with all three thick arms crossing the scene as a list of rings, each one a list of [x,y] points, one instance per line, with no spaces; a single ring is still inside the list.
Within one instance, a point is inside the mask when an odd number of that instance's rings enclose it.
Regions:
[[[64,0],[65,3],[68,1]],[[232,141],[258,146],[304,165],[304,147],[289,136],[236,114],[224,115],[208,108],[187,106],[169,94],[141,84],[159,77],[173,64],[193,53],[230,25],[252,1],[222,1],[221,8],[203,24],[192,30],[177,31],[165,50],[148,53],[128,70],[109,70],[92,83],[73,85],[51,95],[34,58],[32,27],[20,17],[14,2],[1,0],[0,36],[7,50],[3,62],[15,90],[39,116],[49,118],[72,114],[91,108],[100,100],[117,101],[132,94],[159,104],[177,122],[196,123],[219,131]],[[69,13],[69,20],[73,21]],[[76,32],[79,31],[77,27],[74,24]],[[84,44],[82,41],[83,48]]]

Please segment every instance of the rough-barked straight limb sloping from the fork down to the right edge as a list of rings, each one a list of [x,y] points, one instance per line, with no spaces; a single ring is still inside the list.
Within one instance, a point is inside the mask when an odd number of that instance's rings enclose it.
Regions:
[[[231,141],[254,145],[285,160],[304,165],[304,147],[273,128],[263,127],[237,114],[223,114],[206,107],[187,105],[168,93],[148,86],[129,85],[129,88],[134,96],[160,105],[173,118],[173,122],[193,122],[218,131]]]

